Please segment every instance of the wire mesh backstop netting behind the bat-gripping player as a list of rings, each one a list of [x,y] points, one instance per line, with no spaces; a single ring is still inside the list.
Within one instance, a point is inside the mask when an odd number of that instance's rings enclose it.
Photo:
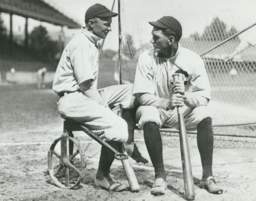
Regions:
[[[133,83],[139,55],[152,48],[148,21],[175,17],[183,28],[181,46],[202,55],[255,23],[255,7],[251,0],[119,0],[120,83]],[[256,147],[251,144],[256,137],[255,33],[256,25],[202,56],[211,84],[215,135],[228,136],[227,143],[243,138],[251,147]],[[226,60],[240,43],[250,46]]]

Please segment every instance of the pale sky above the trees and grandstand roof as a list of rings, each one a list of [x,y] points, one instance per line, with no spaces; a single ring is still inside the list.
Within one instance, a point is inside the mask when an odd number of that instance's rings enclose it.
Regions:
[[[84,26],[84,14],[89,6],[100,3],[118,12],[118,0],[43,0],[64,15]],[[120,0],[122,37],[130,34],[137,46],[148,43],[152,27],[148,21],[155,21],[164,15],[177,18],[183,28],[183,38],[198,32],[202,34],[214,17],[219,17],[227,25],[241,30],[256,22],[256,0]],[[7,17],[7,16],[6,16]],[[8,17],[7,17],[8,18]],[[19,18],[19,17],[16,17]],[[14,17],[15,19],[15,17]],[[8,22],[8,20],[6,20]],[[25,24],[25,19],[16,19],[16,29]],[[38,23],[29,19],[29,31]],[[18,24],[18,25],[17,25]],[[60,27],[46,24],[48,30],[58,31]],[[8,26],[8,24],[7,24]],[[103,49],[118,50],[118,17],[112,18],[112,31],[108,34]],[[79,29],[66,30],[67,37],[79,32]],[[242,35],[241,35],[242,36]]]

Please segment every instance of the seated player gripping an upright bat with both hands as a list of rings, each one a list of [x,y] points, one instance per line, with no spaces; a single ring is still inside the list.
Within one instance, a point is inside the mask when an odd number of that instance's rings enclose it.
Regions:
[[[210,193],[221,193],[212,174],[213,129],[206,107],[210,84],[204,61],[196,53],[181,47],[180,22],[164,16],[152,26],[153,48],[143,52],[138,60],[133,94],[140,106],[136,112],[139,128],[143,129],[145,144],[155,170],[151,194],[164,194],[166,172],[163,165],[161,126],[178,129],[176,106],[182,106],[187,130],[197,130],[197,145],[203,166],[199,187]],[[180,73],[182,81],[173,81]]]

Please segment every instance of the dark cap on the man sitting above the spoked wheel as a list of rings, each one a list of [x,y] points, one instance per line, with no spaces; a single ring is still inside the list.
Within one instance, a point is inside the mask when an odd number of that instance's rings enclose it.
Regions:
[[[117,13],[111,12],[106,6],[96,3],[90,6],[85,12],[85,22],[94,17],[115,17]]]

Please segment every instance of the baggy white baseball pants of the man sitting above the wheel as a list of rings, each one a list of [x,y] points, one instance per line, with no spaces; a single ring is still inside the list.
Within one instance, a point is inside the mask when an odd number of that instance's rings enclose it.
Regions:
[[[108,105],[122,105],[125,109],[134,107],[136,101],[132,95],[132,84],[113,85],[100,89]],[[62,118],[71,118],[83,123],[93,131],[104,131],[104,140],[126,142],[128,139],[127,123],[108,108],[99,105],[82,92],[75,91],[62,96],[57,101],[58,112]]]

